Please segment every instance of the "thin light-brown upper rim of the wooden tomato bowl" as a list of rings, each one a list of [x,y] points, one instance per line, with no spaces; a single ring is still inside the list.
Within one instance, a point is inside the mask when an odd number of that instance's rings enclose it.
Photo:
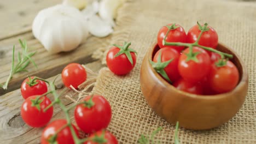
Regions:
[[[225,47],[226,49],[230,50],[232,53],[234,53],[234,57],[237,57],[238,59],[238,62],[241,64],[241,68],[242,68],[242,78],[240,80],[240,82],[238,83],[238,85],[236,86],[235,89],[233,89],[232,91],[230,92],[227,92],[227,93],[221,93],[221,94],[215,94],[215,95],[200,95],[200,94],[191,94],[191,93],[188,93],[188,92],[184,92],[184,91],[180,91],[178,90],[176,87],[172,86],[170,83],[168,83],[166,80],[164,80],[155,70],[154,68],[152,67],[152,65],[149,63],[149,59],[152,60],[152,57],[153,57],[153,52],[154,52],[154,49],[155,47],[158,45],[158,43],[154,43],[149,51],[147,52],[147,63],[150,65],[150,70],[152,70],[153,74],[161,81],[161,83],[163,83],[168,89],[171,88],[173,91],[176,91],[178,93],[181,93],[183,95],[187,95],[188,97],[190,98],[195,98],[195,99],[205,99],[205,100],[212,100],[212,99],[222,99],[222,98],[225,98],[225,97],[230,97],[232,95],[232,93],[235,93],[236,91],[238,91],[239,89],[242,88],[243,85],[245,85],[247,79],[248,79],[248,74],[247,74],[247,70],[246,70],[246,66],[245,64],[242,62],[240,56],[237,55],[237,53],[232,50],[230,47],[222,44],[222,43],[218,43],[218,45],[222,45],[223,47]]]

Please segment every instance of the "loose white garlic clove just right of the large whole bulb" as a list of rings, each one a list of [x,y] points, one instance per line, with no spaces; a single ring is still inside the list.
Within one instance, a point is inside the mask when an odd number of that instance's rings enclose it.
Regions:
[[[113,32],[112,26],[97,15],[93,15],[88,20],[88,30],[96,37],[106,37]]]

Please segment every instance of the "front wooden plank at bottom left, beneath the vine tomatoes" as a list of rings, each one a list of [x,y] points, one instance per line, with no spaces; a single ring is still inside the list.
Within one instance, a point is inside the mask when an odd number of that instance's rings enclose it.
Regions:
[[[86,67],[95,72],[98,72],[102,66],[100,61],[86,64]],[[55,76],[50,77],[48,80],[53,81],[54,78]],[[60,85],[63,85],[61,76],[56,81],[56,86],[60,87]],[[60,93],[63,88],[65,87],[63,86],[57,89],[57,92]],[[61,96],[61,100],[65,105],[72,104],[70,100],[64,98],[66,94],[73,95],[74,97],[78,95],[67,89]],[[53,95],[50,94],[48,97],[53,100]],[[20,107],[23,101],[24,99],[21,97],[20,89],[0,97],[0,143],[40,143],[43,128],[31,128],[23,122],[20,116]],[[71,111],[71,116],[73,116],[73,111]],[[61,118],[65,118],[64,113],[61,111],[59,105],[54,105],[54,115],[51,121]]]

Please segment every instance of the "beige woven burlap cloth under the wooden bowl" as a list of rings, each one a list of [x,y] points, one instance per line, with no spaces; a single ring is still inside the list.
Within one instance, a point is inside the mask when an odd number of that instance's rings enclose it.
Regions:
[[[209,23],[218,32],[219,41],[241,56],[247,65],[249,89],[245,104],[229,122],[207,131],[180,128],[181,143],[256,143],[256,2],[231,0],[137,0],[127,1],[119,9],[110,44],[131,41],[131,47],[138,52],[137,64],[126,76],[115,76],[103,68],[92,93],[104,95],[110,102],[113,117],[108,130],[120,143],[137,143],[140,134],[150,134],[158,127],[163,130],[156,139],[161,143],[174,142],[174,125],[156,115],[142,95],[140,67],[161,26],[176,22],[188,31],[196,21]],[[107,49],[95,53],[103,63]]]

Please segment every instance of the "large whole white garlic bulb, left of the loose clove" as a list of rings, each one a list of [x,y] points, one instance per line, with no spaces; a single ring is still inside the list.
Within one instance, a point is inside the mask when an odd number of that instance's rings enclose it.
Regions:
[[[68,5],[55,5],[39,11],[32,32],[51,53],[71,51],[88,37],[83,15]]]

